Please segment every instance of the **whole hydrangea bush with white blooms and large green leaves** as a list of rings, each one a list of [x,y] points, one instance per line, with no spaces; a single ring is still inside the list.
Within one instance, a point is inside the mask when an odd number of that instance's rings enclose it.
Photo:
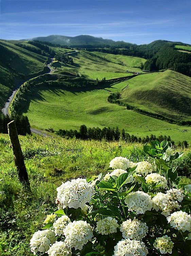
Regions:
[[[191,255],[191,185],[180,182],[170,142],[152,142],[150,162],[124,157],[108,173],[57,188],[57,211],[30,241],[51,256]]]

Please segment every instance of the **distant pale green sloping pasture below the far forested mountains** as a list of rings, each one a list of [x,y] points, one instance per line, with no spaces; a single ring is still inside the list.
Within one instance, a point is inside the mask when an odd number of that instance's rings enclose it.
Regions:
[[[63,49],[62,49],[63,50]],[[60,52],[62,53],[62,52]],[[67,65],[62,62],[53,63],[52,66],[56,67],[59,71],[64,70],[67,72],[76,72],[81,76],[89,79],[101,80],[103,77],[106,79],[127,76],[132,72],[142,72],[140,68],[143,67],[146,61],[143,58],[122,56],[114,54],[105,54],[98,52],[80,51],[78,54],[71,54],[74,65]],[[130,73],[131,75],[131,73]]]

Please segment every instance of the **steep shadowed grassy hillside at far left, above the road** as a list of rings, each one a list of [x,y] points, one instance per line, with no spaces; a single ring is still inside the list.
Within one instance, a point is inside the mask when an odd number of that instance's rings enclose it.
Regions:
[[[19,81],[40,73],[46,57],[0,40],[0,109]]]

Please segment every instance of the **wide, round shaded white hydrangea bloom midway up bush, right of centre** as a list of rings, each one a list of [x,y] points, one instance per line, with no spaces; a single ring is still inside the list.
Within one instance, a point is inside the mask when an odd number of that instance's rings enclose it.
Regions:
[[[128,211],[136,211],[137,214],[151,211],[153,203],[151,196],[143,191],[131,192],[125,197]]]

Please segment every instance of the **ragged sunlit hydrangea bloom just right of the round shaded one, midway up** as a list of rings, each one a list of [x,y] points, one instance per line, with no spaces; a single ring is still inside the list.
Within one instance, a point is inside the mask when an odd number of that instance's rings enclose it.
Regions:
[[[170,213],[174,209],[179,209],[180,205],[177,201],[174,201],[172,195],[170,193],[164,194],[164,193],[157,193],[156,196],[153,197],[153,208],[158,211],[162,211],[162,215],[169,216]]]

